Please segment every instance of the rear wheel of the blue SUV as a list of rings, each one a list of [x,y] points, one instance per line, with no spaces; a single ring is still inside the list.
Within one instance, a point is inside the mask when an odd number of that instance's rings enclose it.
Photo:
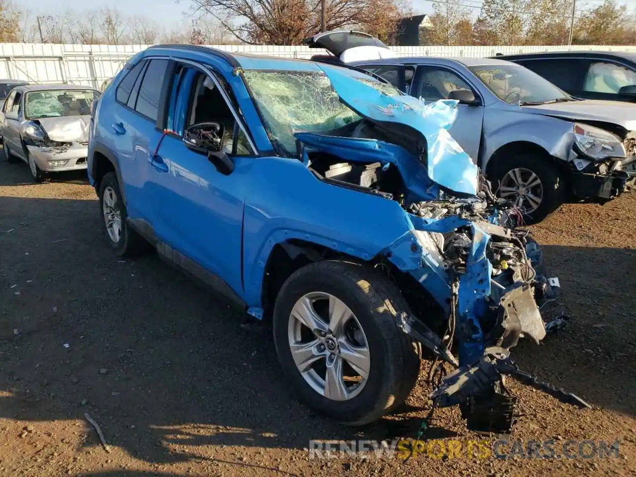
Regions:
[[[106,205],[104,203],[106,200]],[[141,252],[148,247],[148,242],[141,237],[137,232],[130,228],[127,222],[126,207],[123,204],[121,198],[120,186],[117,181],[117,176],[114,172],[109,172],[104,177],[99,188],[99,209],[100,217],[102,218],[102,225],[104,226],[104,232],[106,232],[106,240],[111,248],[120,257],[133,257],[141,254]],[[117,232],[116,226],[114,226],[114,236],[111,237],[109,233],[109,227],[107,224],[106,213],[110,214],[109,219],[119,218],[119,230]],[[112,223],[112,222],[111,222]]]

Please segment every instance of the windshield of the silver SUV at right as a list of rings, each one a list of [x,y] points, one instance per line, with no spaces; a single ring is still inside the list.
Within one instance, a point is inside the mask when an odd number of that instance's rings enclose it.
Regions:
[[[516,65],[469,66],[476,76],[497,97],[509,104],[545,104],[557,101],[574,101],[547,79]]]

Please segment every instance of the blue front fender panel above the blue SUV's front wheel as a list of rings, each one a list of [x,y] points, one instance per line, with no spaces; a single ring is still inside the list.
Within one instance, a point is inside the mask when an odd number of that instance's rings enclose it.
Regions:
[[[243,229],[245,301],[261,307],[265,266],[275,245],[301,239],[370,260],[413,230],[394,200],[336,186],[298,160],[266,158],[253,163]]]

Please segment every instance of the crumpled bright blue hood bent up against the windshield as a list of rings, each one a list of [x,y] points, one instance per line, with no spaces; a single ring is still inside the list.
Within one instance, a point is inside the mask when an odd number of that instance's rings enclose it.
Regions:
[[[340,100],[357,114],[385,130],[395,144],[413,151],[426,148],[427,173],[444,188],[476,195],[479,169],[457,144],[448,129],[457,118],[456,100],[425,103],[408,95],[390,96],[370,85],[376,81],[364,73],[320,65]],[[362,141],[351,138],[349,141]],[[387,162],[392,162],[387,158]]]

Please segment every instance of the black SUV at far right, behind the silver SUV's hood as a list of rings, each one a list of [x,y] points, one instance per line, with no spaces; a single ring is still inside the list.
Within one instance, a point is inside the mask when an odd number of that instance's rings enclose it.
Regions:
[[[636,53],[544,52],[497,55],[584,99],[636,102]]]

